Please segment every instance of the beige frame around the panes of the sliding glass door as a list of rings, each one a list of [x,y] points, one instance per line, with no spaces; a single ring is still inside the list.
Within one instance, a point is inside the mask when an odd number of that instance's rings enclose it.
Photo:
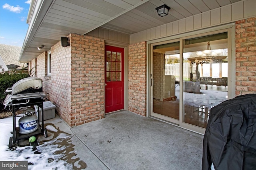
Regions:
[[[183,122],[183,83],[180,83],[180,113],[179,113],[179,121],[173,121],[172,118],[170,119],[163,119],[164,117],[155,117],[153,113],[153,88],[152,88],[152,75],[153,75],[153,46],[160,45],[164,43],[171,43],[180,41],[180,59],[183,61],[183,40],[189,39],[192,37],[200,37],[204,35],[211,35],[227,32],[228,33],[228,99],[235,97],[235,24],[227,24],[218,27],[212,27],[204,30],[192,31],[190,33],[183,33],[179,35],[174,35],[172,37],[164,37],[161,39],[156,39],[147,42],[147,116],[159,119],[161,121],[166,121],[168,123],[173,123],[174,125],[178,125],[184,129],[188,129],[190,131],[194,131],[196,133],[204,134],[205,129],[202,127],[198,127],[195,125],[191,125],[188,123]],[[151,75],[150,75],[151,74]],[[183,62],[180,62],[180,80],[183,82]]]

